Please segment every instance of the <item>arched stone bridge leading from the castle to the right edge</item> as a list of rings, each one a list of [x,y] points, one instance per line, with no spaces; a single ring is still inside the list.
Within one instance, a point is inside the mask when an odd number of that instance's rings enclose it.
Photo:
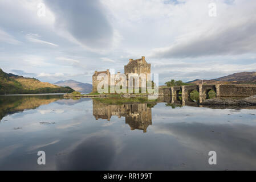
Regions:
[[[190,93],[196,90],[204,100],[209,98],[209,91],[214,90],[217,97],[250,97],[256,95],[256,85],[184,85],[160,88],[160,96],[172,96],[180,100],[180,96],[190,99]]]

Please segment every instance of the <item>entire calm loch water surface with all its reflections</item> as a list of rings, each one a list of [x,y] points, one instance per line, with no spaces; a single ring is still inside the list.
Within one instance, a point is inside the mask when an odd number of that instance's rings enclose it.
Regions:
[[[255,170],[255,114],[254,107],[0,97],[0,169]],[[212,150],[217,165],[208,164]]]

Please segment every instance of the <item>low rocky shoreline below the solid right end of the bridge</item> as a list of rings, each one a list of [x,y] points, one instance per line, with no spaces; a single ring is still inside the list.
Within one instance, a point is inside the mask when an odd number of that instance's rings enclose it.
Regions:
[[[210,98],[201,102],[200,105],[229,105],[229,106],[254,106],[256,105],[256,95],[235,100],[232,98]]]

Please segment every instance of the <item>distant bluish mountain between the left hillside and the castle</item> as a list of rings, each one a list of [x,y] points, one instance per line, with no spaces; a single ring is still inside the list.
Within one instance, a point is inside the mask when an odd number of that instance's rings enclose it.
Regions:
[[[58,81],[58,82],[55,82],[54,84],[58,86],[69,86],[70,88],[81,93],[92,92],[92,84],[84,84],[82,82],[78,82],[75,80]]]

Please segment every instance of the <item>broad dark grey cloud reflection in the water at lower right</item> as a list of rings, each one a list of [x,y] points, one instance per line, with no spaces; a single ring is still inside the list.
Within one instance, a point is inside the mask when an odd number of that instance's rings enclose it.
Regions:
[[[193,153],[217,152],[218,167],[255,168],[255,127],[243,124],[160,123],[152,129],[157,134],[176,137]]]

